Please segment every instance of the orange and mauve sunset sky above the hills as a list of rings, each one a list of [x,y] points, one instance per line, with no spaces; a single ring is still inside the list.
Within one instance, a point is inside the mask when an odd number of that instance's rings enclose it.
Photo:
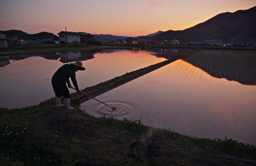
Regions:
[[[0,0],[0,30],[145,36],[254,6],[255,0]]]

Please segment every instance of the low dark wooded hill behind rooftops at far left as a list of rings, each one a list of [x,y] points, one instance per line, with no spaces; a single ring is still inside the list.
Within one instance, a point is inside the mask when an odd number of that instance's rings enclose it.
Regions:
[[[14,36],[17,36],[17,39],[23,39],[23,40],[42,40],[42,37],[45,35],[53,35],[52,33],[49,33],[49,32],[40,32],[38,34],[30,35],[21,30],[6,30],[6,31],[0,30],[0,33],[6,35],[6,38],[13,38]]]

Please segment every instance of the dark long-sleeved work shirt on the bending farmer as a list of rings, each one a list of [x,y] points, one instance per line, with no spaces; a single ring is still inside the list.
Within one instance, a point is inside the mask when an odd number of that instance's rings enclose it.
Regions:
[[[58,80],[60,84],[70,84],[69,78],[71,78],[73,85],[78,89],[76,81],[76,71],[72,64],[64,64],[54,74],[52,79]]]

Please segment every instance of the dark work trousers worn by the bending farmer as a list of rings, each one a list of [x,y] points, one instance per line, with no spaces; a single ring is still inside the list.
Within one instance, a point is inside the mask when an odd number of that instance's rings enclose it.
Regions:
[[[63,83],[63,82],[60,82],[59,80],[52,79],[52,87],[53,87],[55,96],[57,97],[63,96],[64,98],[70,98],[69,90],[66,82]]]

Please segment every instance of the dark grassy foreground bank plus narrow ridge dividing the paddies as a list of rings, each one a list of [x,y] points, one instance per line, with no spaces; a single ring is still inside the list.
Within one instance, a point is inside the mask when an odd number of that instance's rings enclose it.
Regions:
[[[172,61],[126,73],[83,92],[97,95]],[[180,135],[143,126],[141,120],[94,118],[79,110],[86,98],[77,93],[71,98],[76,111],[56,108],[54,98],[22,109],[1,109],[0,165],[255,165],[253,145]]]

